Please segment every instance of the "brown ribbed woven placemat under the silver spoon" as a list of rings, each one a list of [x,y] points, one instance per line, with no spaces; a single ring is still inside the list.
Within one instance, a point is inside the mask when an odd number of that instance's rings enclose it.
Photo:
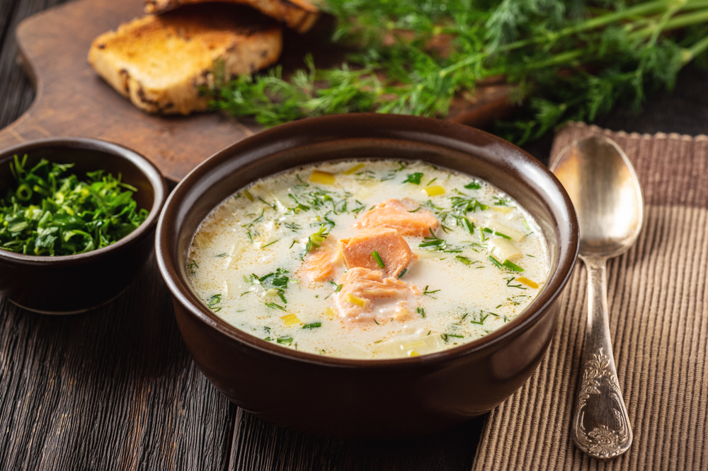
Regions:
[[[587,315],[586,270],[578,260],[553,342],[523,388],[491,412],[474,471],[708,470],[708,137],[571,123],[556,135],[551,155],[590,134],[624,149],[644,192],[639,239],[607,265],[632,448],[601,462],[571,439]]]

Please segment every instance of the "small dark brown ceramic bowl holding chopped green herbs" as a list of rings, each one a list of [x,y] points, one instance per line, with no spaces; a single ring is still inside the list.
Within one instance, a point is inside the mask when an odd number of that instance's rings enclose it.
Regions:
[[[0,250],[0,292],[18,306],[47,314],[79,313],[118,296],[135,279],[153,250],[154,231],[167,197],[165,180],[146,158],[122,146],[96,139],[56,138],[31,141],[0,151],[0,192],[16,185],[13,156],[28,156],[28,167],[41,158],[75,163],[72,173],[107,170],[137,188],[138,208],[149,211],[132,233],[108,247],[59,257]]]

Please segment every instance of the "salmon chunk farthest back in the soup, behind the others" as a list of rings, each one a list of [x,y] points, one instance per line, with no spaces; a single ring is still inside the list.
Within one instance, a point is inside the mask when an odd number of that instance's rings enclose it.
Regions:
[[[410,198],[387,199],[364,214],[354,227],[388,227],[396,229],[403,236],[423,237],[430,235],[430,229],[435,231],[440,227],[440,221],[435,214],[421,208]]]

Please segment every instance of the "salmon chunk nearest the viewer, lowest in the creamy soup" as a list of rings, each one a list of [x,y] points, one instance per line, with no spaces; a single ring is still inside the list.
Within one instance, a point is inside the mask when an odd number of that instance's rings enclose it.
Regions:
[[[334,307],[346,320],[399,318],[401,304],[395,301],[421,294],[414,284],[384,278],[381,272],[362,267],[350,269],[340,282],[342,289],[335,296]]]

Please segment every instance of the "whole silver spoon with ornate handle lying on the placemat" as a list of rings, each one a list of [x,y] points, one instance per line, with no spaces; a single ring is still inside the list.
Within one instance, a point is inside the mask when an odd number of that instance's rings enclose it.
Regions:
[[[629,159],[615,142],[593,136],[575,141],[551,167],[575,206],[580,257],[588,269],[588,327],[571,434],[593,458],[622,455],[632,445],[632,427],[617,381],[607,318],[610,257],[626,252],[644,221],[644,200]]]

